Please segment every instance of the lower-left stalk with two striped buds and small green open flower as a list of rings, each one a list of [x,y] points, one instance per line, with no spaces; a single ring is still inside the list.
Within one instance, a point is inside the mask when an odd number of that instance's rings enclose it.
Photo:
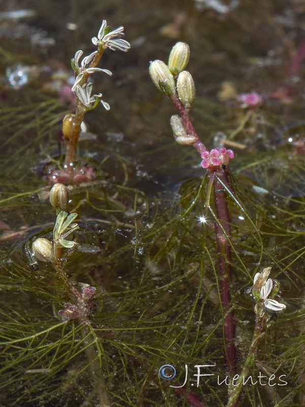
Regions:
[[[77,321],[81,326],[84,351],[94,382],[94,389],[87,401],[94,399],[94,405],[110,407],[109,396],[102,375],[100,344],[90,323],[90,316],[96,308],[96,303],[93,301],[96,288],[84,283],[73,283],[63,266],[65,255],[63,251],[77,246],[77,242],[73,239],[73,233],[79,229],[78,224],[73,223],[77,214],[67,212],[68,188],[59,183],[55,184],[50,191],[50,202],[57,214],[53,228],[53,242],[45,238],[36,239],[32,245],[33,255],[40,261],[49,261],[52,264],[58,279],[64,286],[66,296],[71,301],[71,303],[64,303],[64,309],[58,311],[58,316],[64,322]],[[67,240],[68,237],[70,240]],[[77,285],[80,285],[81,289],[78,289]],[[97,399],[99,404],[97,404]]]

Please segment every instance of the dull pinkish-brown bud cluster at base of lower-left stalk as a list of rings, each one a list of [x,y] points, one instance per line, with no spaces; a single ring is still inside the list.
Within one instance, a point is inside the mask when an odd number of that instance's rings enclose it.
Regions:
[[[94,301],[89,301],[96,293],[96,288],[88,284],[83,284],[81,290],[81,298],[77,301],[77,306],[66,302],[64,309],[58,311],[58,315],[62,317],[63,321],[73,321],[73,319],[86,318],[92,315],[96,308]]]

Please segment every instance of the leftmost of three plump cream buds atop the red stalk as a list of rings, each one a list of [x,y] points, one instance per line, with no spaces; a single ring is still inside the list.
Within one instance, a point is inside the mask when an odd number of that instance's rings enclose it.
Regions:
[[[149,75],[159,91],[166,93],[167,96],[175,95],[175,81],[168,66],[164,62],[156,60],[149,65]]]

